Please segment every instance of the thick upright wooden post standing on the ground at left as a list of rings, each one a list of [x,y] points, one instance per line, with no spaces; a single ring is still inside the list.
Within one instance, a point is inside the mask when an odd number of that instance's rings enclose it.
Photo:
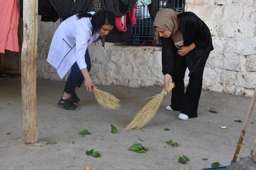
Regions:
[[[21,52],[21,91],[24,143],[37,142],[37,0],[23,1],[23,43]]]

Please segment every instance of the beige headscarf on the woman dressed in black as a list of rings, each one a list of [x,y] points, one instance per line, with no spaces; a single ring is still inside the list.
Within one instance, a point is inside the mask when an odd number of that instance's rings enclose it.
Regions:
[[[154,26],[160,27],[161,29],[170,30],[172,35],[178,31],[177,15],[173,9],[164,8],[160,9],[156,13],[154,20]],[[158,31],[155,32],[156,40],[160,41],[160,35]]]

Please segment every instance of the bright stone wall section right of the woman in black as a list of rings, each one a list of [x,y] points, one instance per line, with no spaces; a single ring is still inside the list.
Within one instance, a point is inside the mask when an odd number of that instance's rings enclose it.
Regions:
[[[213,39],[203,88],[252,96],[256,85],[255,0],[186,0],[185,10],[207,24]]]

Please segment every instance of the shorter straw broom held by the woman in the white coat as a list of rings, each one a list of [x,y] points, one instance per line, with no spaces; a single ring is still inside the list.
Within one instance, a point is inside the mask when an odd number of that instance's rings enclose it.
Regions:
[[[121,100],[115,98],[112,94],[98,90],[96,88],[92,88],[93,93],[95,94],[96,101],[103,106],[104,108],[108,109],[118,109],[120,108]]]

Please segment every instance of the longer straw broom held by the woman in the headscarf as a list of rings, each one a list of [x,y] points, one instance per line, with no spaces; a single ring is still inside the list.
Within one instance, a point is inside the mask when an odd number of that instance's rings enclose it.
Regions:
[[[174,88],[174,83],[169,84],[168,90],[171,90],[172,88]],[[145,126],[148,121],[155,116],[166,93],[167,91],[164,90],[154,96],[154,98],[137,113],[132,122],[130,122],[124,130],[140,129]]]

